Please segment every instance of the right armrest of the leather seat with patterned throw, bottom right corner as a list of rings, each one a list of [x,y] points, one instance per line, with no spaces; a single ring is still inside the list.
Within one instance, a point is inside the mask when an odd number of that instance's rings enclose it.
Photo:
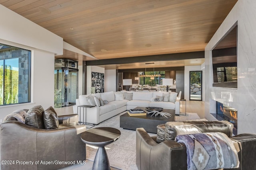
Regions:
[[[256,135],[240,134],[230,138],[238,151],[239,167],[230,170],[252,170],[255,169],[256,158]],[[225,169],[227,170],[227,169]]]

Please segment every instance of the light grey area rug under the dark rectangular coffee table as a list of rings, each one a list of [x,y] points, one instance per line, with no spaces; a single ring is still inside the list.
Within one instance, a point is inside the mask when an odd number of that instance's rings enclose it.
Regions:
[[[114,127],[121,131],[120,138],[114,143],[111,143],[110,145],[107,145],[105,147],[106,152],[108,154],[110,166],[122,170],[138,170],[136,166],[136,131],[120,128],[120,115],[124,113],[125,112],[120,113],[106,121],[103,121],[95,127]],[[196,113],[187,113],[186,115],[176,116],[175,119],[176,121],[186,121],[200,118]],[[148,134],[150,136],[156,135],[153,133]],[[97,147],[87,145],[86,159],[93,161],[97,149]]]

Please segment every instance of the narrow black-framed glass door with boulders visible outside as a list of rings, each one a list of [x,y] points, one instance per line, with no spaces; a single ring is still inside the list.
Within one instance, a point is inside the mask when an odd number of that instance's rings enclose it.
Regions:
[[[190,71],[189,100],[202,101],[202,71]]]

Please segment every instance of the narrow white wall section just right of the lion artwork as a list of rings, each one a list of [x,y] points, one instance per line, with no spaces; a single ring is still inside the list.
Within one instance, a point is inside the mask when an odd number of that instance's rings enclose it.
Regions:
[[[116,69],[105,70],[105,92],[116,91]]]

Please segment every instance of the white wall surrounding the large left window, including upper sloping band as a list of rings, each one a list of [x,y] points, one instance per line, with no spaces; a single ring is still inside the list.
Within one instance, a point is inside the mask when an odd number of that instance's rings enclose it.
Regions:
[[[63,39],[0,5],[0,43],[31,51],[31,103],[0,106],[0,121],[16,109],[54,106],[54,54]]]

